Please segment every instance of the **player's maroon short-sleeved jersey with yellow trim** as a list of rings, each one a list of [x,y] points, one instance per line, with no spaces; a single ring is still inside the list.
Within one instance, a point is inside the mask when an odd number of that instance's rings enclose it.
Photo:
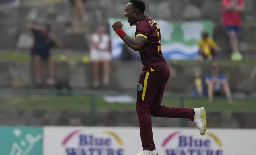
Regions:
[[[151,17],[144,17],[136,24],[135,36],[144,36],[147,42],[140,49],[140,57],[144,65],[142,72],[169,69],[161,48],[159,26]]]

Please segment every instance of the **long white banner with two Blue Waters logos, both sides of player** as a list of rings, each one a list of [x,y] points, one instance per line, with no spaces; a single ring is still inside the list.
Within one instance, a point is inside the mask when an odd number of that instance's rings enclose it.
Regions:
[[[136,155],[138,128],[44,127],[43,155]],[[256,155],[256,130],[153,128],[160,155]]]

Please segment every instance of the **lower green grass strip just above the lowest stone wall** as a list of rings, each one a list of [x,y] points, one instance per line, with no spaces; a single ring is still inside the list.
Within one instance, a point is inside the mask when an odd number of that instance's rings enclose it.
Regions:
[[[100,97],[80,96],[48,96],[48,97],[16,97],[1,100],[1,107],[16,108],[49,108],[49,109],[75,109],[75,110],[135,110],[135,104],[107,103]],[[182,106],[180,99],[164,99],[163,105]],[[206,99],[184,99],[185,107],[204,106],[207,111],[233,111],[233,112],[256,112],[255,100],[234,100],[228,104],[226,99],[216,99],[209,103]]]

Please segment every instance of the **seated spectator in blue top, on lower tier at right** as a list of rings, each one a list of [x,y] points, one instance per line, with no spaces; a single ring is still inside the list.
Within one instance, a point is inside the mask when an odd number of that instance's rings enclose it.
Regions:
[[[223,92],[227,96],[229,102],[232,102],[229,85],[224,75],[219,74],[219,66],[216,61],[212,63],[211,74],[206,76],[205,82],[207,86],[206,91],[209,98],[209,102],[213,101],[213,95],[223,96]]]

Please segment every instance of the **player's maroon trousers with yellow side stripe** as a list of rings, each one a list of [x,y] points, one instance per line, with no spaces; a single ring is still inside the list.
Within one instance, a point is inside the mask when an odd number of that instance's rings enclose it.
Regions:
[[[137,85],[136,111],[140,124],[140,138],[143,150],[152,151],[155,149],[151,116],[188,118],[191,121],[194,119],[194,110],[192,108],[176,108],[161,105],[169,76],[169,69],[142,72],[140,74]]]

